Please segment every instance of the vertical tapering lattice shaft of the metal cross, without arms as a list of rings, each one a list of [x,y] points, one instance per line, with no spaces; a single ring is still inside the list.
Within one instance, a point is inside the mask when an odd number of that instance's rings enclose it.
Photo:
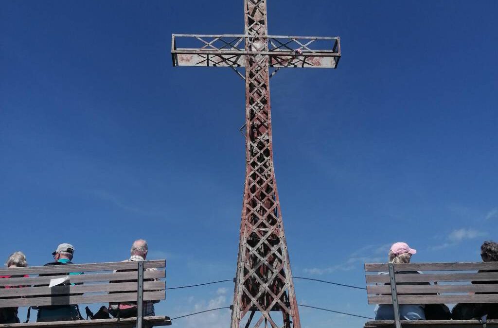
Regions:
[[[245,0],[246,49],[268,51],[265,0]],[[232,328],[300,328],[273,171],[269,59],[246,56],[246,185]],[[282,320],[274,320],[279,311]]]

